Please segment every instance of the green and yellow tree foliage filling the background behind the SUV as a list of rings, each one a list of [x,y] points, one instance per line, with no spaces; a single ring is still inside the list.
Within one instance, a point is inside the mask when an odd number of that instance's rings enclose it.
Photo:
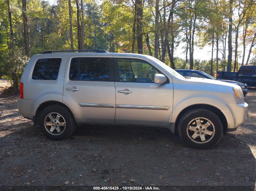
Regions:
[[[228,1],[226,0],[184,0],[170,1],[161,0],[159,2],[160,18],[159,28],[155,25],[155,1],[143,1],[142,35],[143,35],[143,53],[149,54],[146,44],[146,34],[149,36],[149,46],[154,55],[155,32],[159,32],[159,50],[162,54],[164,48],[165,30],[169,32],[167,37],[175,54],[175,48],[180,43],[185,43],[182,47],[187,49],[188,28],[195,25],[194,45],[203,49],[204,46],[212,45],[212,35],[214,35],[214,54],[216,53],[216,41],[219,44],[219,71],[227,66],[224,58],[224,38],[227,39],[227,18],[229,12]],[[133,23],[136,18],[135,1],[131,0],[103,0],[96,2],[94,0],[84,0],[84,45],[85,49],[106,49],[109,52],[131,53],[133,44]],[[246,46],[250,46],[254,31],[256,29],[255,19],[255,1],[253,0],[234,0],[234,13],[238,13],[238,6],[241,3],[241,10],[247,10],[244,21],[240,26],[248,26],[246,36]],[[164,5],[166,5],[164,9]],[[80,1],[79,1],[79,6]],[[7,14],[6,1],[0,1],[0,75],[7,76],[14,80],[13,74],[18,76],[27,58],[24,56],[24,37],[22,20],[22,2],[19,0],[10,0],[10,9],[12,12],[12,25],[14,32],[15,53],[10,55],[10,26]],[[73,41],[74,48],[78,47],[77,38],[77,15],[76,2],[71,0]],[[40,54],[45,50],[71,49],[71,40],[69,33],[69,12],[68,1],[58,0],[56,5],[50,5],[44,0],[27,0],[29,38],[31,47],[31,56]],[[169,17],[170,15],[170,17]],[[81,16],[81,15],[80,15]],[[196,19],[195,19],[196,18]],[[252,18],[252,19],[250,19]],[[170,24],[165,25],[164,20],[170,19]],[[195,20],[194,20],[195,19]],[[238,22],[234,18],[234,26]],[[81,21],[80,21],[81,22]],[[137,23],[135,24],[135,49],[137,52]],[[243,40],[242,28],[239,29],[239,38]],[[172,34],[172,35],[171,35]],[[186,35],[187,34],[187,37]],[[234,33],[233,33],[234,36]],[[234,37],[233,37],[234,39]],[[172,44],[173,43],[173,44]],[[234,44],[233,44],[234,47]],[[226,47],[227,49],[227,47]],[[235,48],[234,48],[235,49]],[[196,49],[195,49],[196,50]],[[186,52],[186,51],[185,51]],[[188,51],[189,52],[189,51]],[[238,52],[242,54],[242,52]],[[247,55],[247,53],[245,53]],[[159,55],[161,56],[161,55]],[[176,68],[189,69],[189,64],[185,62],[184,57],[174,58]],[[227,57],[227,55],[225,56]],[[239,55],[238,55],[239,57]],[[213,56],[215,59],[216,56]],[[245,59],[246,60],[246,59]],[[251,63],[256,61],[255,56]],[[189,61],[188,61],[189,62]],[[9,63],[9,65],[7,64]],[[165,63],[170,66],[170,60],[165,54]],[[250,64],[250,63],[249,63]],[[17,69],[15,67],[17,66]],[[213,61],[213,71],[216,71],[216,61]],[[232,62],[232,68],[234,62]],[[194,69],[204,71],[210,74],[211,61],[194,60]]]

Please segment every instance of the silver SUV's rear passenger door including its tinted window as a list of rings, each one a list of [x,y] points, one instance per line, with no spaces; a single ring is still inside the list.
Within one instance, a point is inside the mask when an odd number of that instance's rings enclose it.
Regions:
[[[113,56],[71,56],[63,101],[74,110],[78,123],[115,123]]]

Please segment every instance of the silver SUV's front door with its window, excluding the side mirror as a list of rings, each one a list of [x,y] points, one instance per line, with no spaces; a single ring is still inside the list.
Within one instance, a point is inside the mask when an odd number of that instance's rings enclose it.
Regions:
[[[171,78],[147,59],[114,56],[117,124],[169,126],[173,104]],[[168,81],[155,84],[155,74]]]

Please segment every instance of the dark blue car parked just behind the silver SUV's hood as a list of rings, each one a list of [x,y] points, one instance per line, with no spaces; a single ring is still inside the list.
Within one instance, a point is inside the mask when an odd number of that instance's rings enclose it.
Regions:
[[[217,80],[213,76],[211,76],[205,72],[199,71],[199,70],[176,69],[175,71],[178,72],[180,75],[187,76],[187,77],[207,78],[207,79]],[[234,72],[232,72],[232,73],[234,73]],[[218,80],[239,85],[242,88],[244,97],[248,93],[247,84],[245,84],[245,83],[238,82],[238,81],[232,81],[232,80],[220,80],[220,79],[218,79]]]

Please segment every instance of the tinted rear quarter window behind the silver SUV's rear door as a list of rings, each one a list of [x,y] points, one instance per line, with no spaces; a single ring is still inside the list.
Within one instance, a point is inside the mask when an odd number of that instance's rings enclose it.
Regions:
[[[38,59],[32,73],[33,80],[56,80],[58,78],[61,58]]]

